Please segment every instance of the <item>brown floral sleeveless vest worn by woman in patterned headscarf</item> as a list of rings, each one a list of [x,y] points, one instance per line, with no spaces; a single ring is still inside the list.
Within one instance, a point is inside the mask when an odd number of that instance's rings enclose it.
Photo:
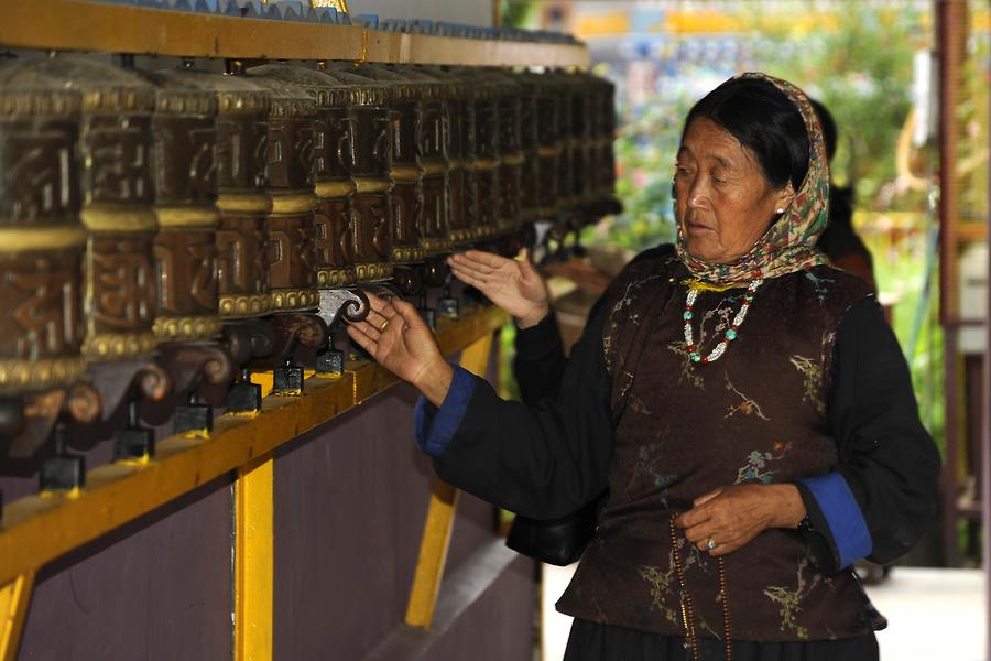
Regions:
[[[669,636],[684,635],[671,514],[720,486],[789,483],[835,466],[826,419],[832,345],[842,314],[868,295],[859,280],[828,267],[765,281],[726,354],[698,365],[685,350],[686,278],[664,251],[631,264],[607,293],[603,345],[617,416],[609,497],[557,604],[575,617]],[[693,327],[704,356],[744,291],[698,295]],[[719,638],[717,563],[678,540],[699,636]],[[725,563],[733,639],[870,630],[853,578],[819,573],[797,531],[764,531]]]

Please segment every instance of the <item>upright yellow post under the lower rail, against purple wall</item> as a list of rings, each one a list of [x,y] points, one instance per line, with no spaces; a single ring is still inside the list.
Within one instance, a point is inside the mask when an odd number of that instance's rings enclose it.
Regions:
[[[272,660],[274,466],[269,453],[238,470],[235,485],[235,659]]]

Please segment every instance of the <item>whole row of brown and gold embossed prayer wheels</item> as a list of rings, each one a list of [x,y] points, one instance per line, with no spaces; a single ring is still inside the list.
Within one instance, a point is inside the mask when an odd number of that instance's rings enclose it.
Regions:
[[[3,454],[135,392],[288,365],[367,314],[363,288],[444,286],[453,251],[613,212],[614,121],[587,73],[3,63]]]

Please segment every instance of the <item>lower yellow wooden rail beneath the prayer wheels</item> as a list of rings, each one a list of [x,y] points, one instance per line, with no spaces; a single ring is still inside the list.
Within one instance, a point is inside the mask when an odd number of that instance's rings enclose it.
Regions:
[[[486,307],[444,326],[437,339],[455,354],[508,321]],[[311,378],[302,397],[268,397],[255,416],[226,414],[209,438],[171,436],[146,464],[89,470],[77,495],[29,496],[3,508],[0,586],[231,470],[265,457],[295,436],[360,404],[395,382],[373,364],[337,379]]]

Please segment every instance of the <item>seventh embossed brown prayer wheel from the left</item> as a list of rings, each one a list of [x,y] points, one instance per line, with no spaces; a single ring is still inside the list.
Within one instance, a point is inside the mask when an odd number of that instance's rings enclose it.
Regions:
[[[351,130],[351,250],[358,282],[392,278],[392,112],[386,88],[355,67],[327,63],[323,73],[347,86]]]

